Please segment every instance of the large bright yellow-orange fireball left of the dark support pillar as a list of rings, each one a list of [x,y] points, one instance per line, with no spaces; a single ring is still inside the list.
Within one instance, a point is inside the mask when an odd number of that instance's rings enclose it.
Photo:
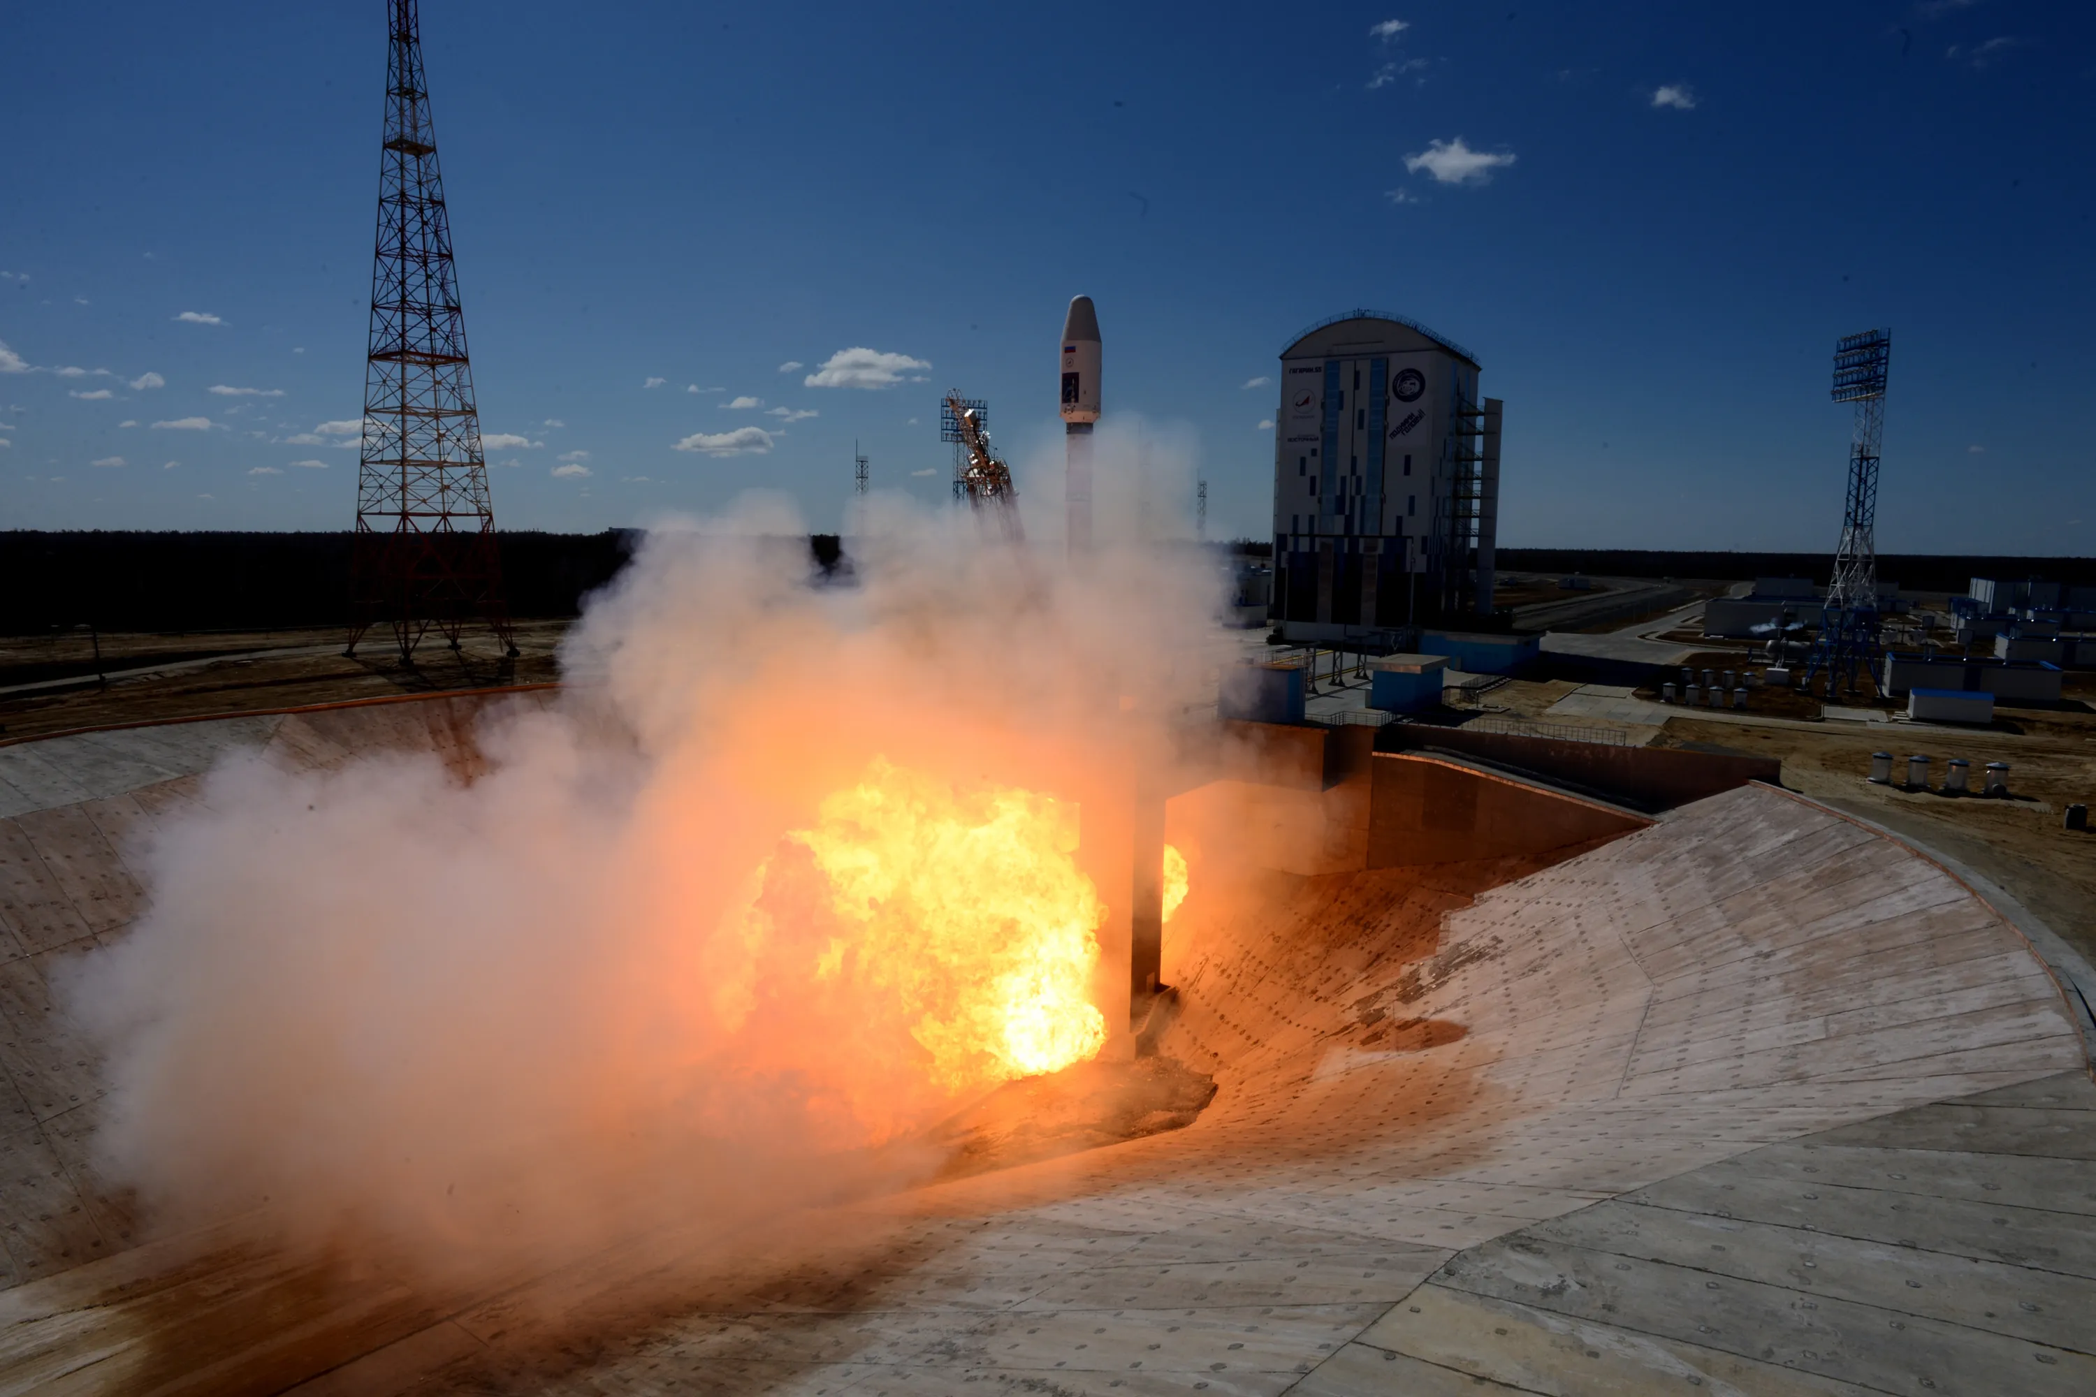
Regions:
[[[1075,806],[1023,790],[956,792],[874,758],[832,794],[807,850],[826,909],[807,974],[908,1026],[947,1093],[1098,1056],[1088,999],[1105,907],[1073,855]],[[780,871],[780,855],[763,878]],[[769,901],[769,899],[767,899]]]

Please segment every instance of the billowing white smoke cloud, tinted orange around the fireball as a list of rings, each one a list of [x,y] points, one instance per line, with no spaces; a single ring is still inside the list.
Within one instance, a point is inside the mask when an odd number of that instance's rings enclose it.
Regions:
[[[857,509],[853,586],[811,576],[782,498],[652,532],[558,700],[486,712],[472,781],[428,752],[222,762],[67,989],[109,1062],[96,1167],[159,1225],[268,1200],[291,1244],[467,1280],[926,1169],[868,1152],[954,1106],[920,1010],[824,978],[836,943],[752,878],[876,758],[1123,788],[1193,697],[1211,578]]]

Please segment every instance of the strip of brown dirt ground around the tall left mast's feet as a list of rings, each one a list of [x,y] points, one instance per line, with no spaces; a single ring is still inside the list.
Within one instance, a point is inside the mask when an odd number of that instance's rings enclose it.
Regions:
[[[0,741],[111,723],[549,683],[560,677],[553,651],[568,624],[518,622],[522,653],[516,660],[505,658],[488,633],[467,633],[457,653],[442,637],[425,639],[409,666],[381,635],[367,637],[356,656],[346,658],[346,637],[333,626],[0,637]]]

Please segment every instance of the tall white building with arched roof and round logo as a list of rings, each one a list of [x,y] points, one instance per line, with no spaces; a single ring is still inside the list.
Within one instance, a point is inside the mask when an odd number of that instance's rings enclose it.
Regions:
[[[1469,350],[1350,310],[1281,352],[1272,620],[1291,641],[1373,641],[1492,612],[1499,398]]]

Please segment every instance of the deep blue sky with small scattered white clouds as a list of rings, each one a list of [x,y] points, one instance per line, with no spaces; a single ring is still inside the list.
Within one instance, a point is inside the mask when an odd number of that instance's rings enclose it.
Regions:
[[[346,528],[384,4],[8,29],[0,528]],[[750,486],[834,528],[855,438],[939,498],[947,385],[1048,452],[1084,291],[1109,417],[1199,444],[1211,534],[1268,528],[1245,385],[1373,306],[1505,398],[1507,545],[1832,549],[1828,354],[1891,325],[1878,547],[2090,553],[2092,38],[2012,0],[423,6],[497,519],[553,530]]]

